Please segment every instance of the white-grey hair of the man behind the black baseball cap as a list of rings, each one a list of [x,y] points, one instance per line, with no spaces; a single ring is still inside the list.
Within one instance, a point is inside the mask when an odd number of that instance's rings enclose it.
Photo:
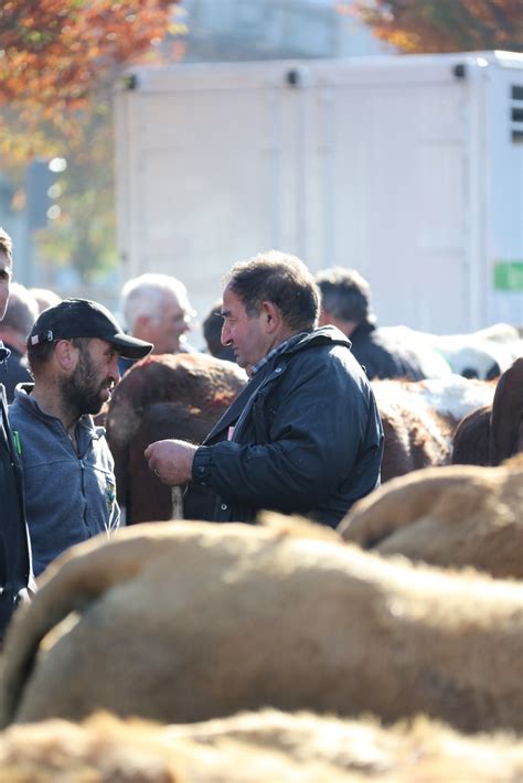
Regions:
[[[121,289],[121,312],[126,328],[132,333],[141,315],[158,318],[166,294],[173,297],[186,315],[195,315],[183,282],[171,275],[146,272],[128,280]]]

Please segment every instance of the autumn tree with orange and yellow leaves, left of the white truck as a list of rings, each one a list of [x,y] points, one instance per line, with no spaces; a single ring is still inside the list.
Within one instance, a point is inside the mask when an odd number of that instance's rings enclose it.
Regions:
[[[177,1],[177,0],[175,0]],[[22,182],[33,157],[68,161],[62,212],[41,233],[54,262],[83,279],[115,261],[110,90],[118,72],[154,57],[172,0],[2,0],[0,170]]]

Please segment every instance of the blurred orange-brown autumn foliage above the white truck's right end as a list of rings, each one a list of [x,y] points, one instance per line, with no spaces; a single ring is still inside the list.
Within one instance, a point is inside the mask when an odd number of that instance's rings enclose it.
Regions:
[[[354,8],[401,52],[523,51],[521,0],[357,0]]]

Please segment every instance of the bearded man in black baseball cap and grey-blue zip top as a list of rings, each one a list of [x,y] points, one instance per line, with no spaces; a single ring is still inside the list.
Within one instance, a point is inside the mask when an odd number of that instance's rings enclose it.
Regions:
[[[118,526],[114,461],[93,415],[118,383],[118,357],[151,350],[87,299],[65,299],[35,321],[28,337],[34,384],[20,385],[10,406],[35,576],[70,546]]]

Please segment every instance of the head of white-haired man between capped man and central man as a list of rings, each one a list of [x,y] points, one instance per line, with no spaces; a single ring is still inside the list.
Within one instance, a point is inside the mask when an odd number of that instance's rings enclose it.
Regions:
[[[185,286],[170,275],[146,273],[121,290],[121,311],[129,334],[153,344],[152,353],[190,351],[185,332],[194,311]]]

